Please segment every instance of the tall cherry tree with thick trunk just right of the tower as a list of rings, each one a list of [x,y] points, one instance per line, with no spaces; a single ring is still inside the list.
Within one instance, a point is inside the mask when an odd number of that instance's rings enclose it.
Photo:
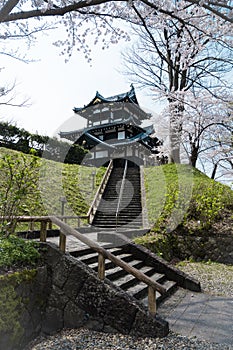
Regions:
[[[133,27],[139,40],[123,55],[126,74],[142,87],[149,87],[154,98],[167,101],[170,160],[180,162],[183,142],[186,146],[189,144],[189,159],[195,166],[200,139],[207,129],[206,123],[200,126],[200,120],[204,119],[200,119],[202,111],[196,106],[197,95],[200,96],[200,91],[205,94],[204,99],[199,98],[198,106],[203,109],[203,117],[207,106],[216,108],[216,101],[219,105],[230,101],[230,85],[225,79],[233,66],[229,28],[226,30],[225,27],[224,32],[219,31],[218,20],[207,16],[201,7],[180,8],[180,17],[176,19],[158,18],[154,14],[144,17],[136,6],[133,5],[133,9],[140,20],[140,27]],[[193,120],[192,131],[189,129],[185,132],[184,121],[186,125],[190,121],[189,106],[193,107],[192,118],[196,120]],[[211,123],[207,123],[209,127],[212,126],[213,115],[211,118]],[[219,118],[217,113],[214,125],[219,125]],[[184,135],[187,137],[185,142]]]

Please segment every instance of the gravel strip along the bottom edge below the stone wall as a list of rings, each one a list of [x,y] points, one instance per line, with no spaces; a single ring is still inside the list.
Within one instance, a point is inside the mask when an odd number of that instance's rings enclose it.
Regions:
[[[195,338],[189,339],[170,333],[166,338],[136,339],[121,334],[105,334],[87,329],[64,330],[47,339],[38,339],[39,344],[30,350],[229,350],[232,347],[210,344]],[[28,349],[27,349],[28,350]]]

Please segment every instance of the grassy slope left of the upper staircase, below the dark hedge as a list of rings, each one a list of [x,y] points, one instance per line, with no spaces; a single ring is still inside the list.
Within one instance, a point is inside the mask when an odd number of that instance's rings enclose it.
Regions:
[[[10,154],[13,159],[22,156],[20,152],[0,148],[0,158]],[[29,155],[24,155],[31,157]],[[38,159],[39,166],[34,169],[36,189],[23,199],[18,215],[61,214],[60,197],[66,196],[66,215],[85,215],[96,189],[105,172],[104,168],[90,168],[74,164]],[[92,172],[96,171],[93,187]],[[3,185],[0,174],[0,186]],[[1,188],[4,191],[4,188]]]

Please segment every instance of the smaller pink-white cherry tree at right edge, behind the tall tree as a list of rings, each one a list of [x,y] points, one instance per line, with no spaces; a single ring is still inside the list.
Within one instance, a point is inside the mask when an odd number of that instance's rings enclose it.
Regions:
[[[188,97],[183,116],[182,145],[192,166],[196,167],[198,160],[202,163],[212,161],[211,177],[214,178],[223,161],[232,162],[231,108],[224,99],[210,96],[206,91],[200,91],[195,99],[192,93]]]

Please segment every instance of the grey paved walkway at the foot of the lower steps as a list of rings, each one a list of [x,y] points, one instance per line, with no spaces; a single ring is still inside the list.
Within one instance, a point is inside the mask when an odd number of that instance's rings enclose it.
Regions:
[[[175,333],[232,345],[233,349],[233,298],[178,290],[158,313]]]

